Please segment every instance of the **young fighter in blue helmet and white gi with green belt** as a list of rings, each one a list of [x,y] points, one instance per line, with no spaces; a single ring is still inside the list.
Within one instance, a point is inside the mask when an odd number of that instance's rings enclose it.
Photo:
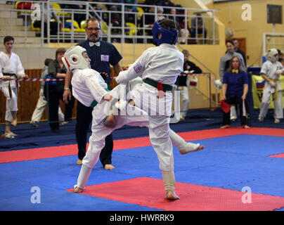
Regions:
[[[150,141],[160,162],[166,198],[176,200],[179,196],[174,191],[174,157],[169,138],[169,120],[172,112],[172,87],[176,77],[183,72],[183,54],[175,46],[179,31],[173,20],[157,20],[152,32],[156,47],[144,51],[115,80],[120,84],[142,77],[143,83],[132,91],[133,100],[135,105],[146,110],[149,115]]]

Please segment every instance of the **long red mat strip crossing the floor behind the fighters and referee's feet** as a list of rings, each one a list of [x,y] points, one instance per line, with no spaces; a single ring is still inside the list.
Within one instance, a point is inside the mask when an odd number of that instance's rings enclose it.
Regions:
[[[213,139],[221,136],[231,136],[237,134],[257,134],[267,136],[284,136],[283,129],[273,128],[254,128],[243,129],[241,127],[232,127],[231,129],[206,129],[201,131],[181,132],[179,135],[186,141],[195,141],[202,139]],[[121,139],[114,141],[114,150],[125,148],[138,148],[143,146],[150,146],[150,139],[148,136]],[[43,158],[53,158],[67,155],[77,155],[77,144],[67,146],[51,146],[46,148],[30,148],[25,150],[11,150],[0,152],[0,163],[4,162],[18,162],[24,160],[39,160]]]

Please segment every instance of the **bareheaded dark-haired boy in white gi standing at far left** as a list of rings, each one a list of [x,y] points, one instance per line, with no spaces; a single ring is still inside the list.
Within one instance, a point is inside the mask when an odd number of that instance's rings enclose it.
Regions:
[[[18,111],[18,82],[15,78],[27,78],[22,68],[20,57],[12,52],[14,39],[11,36],[4,37],[4,51],[0,52],[0,90],[6,97],[5,134],[6,138],[16,136],[11,131],[11,125],[17,125]]]

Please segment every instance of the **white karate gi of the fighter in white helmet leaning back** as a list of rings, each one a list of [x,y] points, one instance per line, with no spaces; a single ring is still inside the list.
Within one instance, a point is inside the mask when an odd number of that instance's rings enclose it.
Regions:
[[[127,85],[120,84],[110,91],[110,95],[114,98],[124,98],[128,101],[134,97],[131,89],[140,86],[141,82],[142,79],[136,78],[128,82]],[[117,126],[114,128],[105,127],[103,125],[103,119],[109,114],[111,103],[102,100],[103,96],[108,92],[105,91],[107,85],[101,75],[95,70],[90,69],[74,70],[71,83],[73,96],[75,96],[82,104],[89,107],[94,99],[98,102],[92,112],[92,135],[89,139],[89,148],[82,161],[83,165],[79,173],[77,184],[75,185],[84,189],[86,181],[91,174],[91,169],[96,165],[101,150],[105,146],[105,137],[111,134],[115,129],[124,126],[124,124],[137,127],[149,127],[149,117],[145,111],[132,105],[127,105],[125,115],[117,117]],[[133,112],[135,112],[136,115],[131,115]],[[179,148],[179,150],[182,148],[191,148],[193,150],[200,146],[199,143],[186,143],[186,141],[181,139],[181,137],[172,130],[169,131],[169,136],[171,137],[174,146]]]

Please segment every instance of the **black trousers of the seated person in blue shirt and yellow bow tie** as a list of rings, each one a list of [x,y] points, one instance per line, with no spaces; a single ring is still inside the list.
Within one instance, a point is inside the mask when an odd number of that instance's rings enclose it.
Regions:
[[[240,122],[243,125],[247,125],[247,110],[248,110],[248,105],[247,105],[247,100],[245,100],[245,112],[246,115],[243,115],[243,99],[242,96],[234,96],[234,97],[226,97],[226,103],[230,105],[235,105],[235,108],[239,109],[240,113]],[[223,111],[223,125],[228,125],[230,124],[230,111],[228,113],[224,113]]]

